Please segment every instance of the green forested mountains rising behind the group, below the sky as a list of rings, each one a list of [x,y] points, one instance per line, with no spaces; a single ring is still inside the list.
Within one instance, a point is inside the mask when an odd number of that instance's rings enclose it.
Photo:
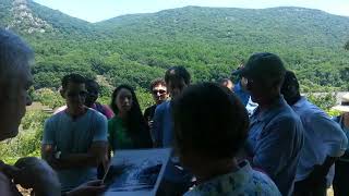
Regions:
[[[280,54],[304,90],[349,87],[349,17],[318,10],[185,7],[88,23],[31,0],[1,0],[0,26],[35,49],[36,88],[57,88],[69,72],[147,87],[171,65],[213,81],[257,51]]]

